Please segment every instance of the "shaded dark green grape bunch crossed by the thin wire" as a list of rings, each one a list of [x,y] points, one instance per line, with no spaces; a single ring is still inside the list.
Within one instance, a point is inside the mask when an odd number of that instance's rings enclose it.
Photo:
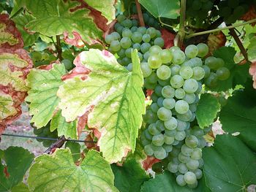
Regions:
[[[48,123],[46,126],[42,128],[35,128],[34,127],[34,134],[37,137],[45,137],[50,139],[57,139],[58,138],[58,132],[57,130],[51,132],[50,131],[50,123]],[[56,140],[48,140],[48,139],[37,139],[37,142],[42,142],[42,145],[44,147],[50,147],[50,145],[53,144],[53,142],[56,142]]]

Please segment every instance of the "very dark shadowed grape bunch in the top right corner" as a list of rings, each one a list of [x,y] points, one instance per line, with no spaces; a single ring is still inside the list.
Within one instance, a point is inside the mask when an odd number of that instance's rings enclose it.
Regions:
[[[249,10],[249,5],[252,1],[249,0],[223,0],[219,1],[218,15],[223,17],[225,23],[235,23]]]

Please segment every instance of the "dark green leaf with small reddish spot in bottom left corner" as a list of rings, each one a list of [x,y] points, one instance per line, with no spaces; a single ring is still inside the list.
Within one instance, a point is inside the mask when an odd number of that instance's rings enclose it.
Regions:
[[[14,158],[15,157],[15,158]],[[23,180],[34,155],[23,147],[8,147],[0,159],[0,191],[10,191]],[[6,165],[1,164],[4,161]]]

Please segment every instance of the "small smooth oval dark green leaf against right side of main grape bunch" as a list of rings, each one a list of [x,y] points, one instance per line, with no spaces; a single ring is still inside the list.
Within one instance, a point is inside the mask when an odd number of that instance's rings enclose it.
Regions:
[[[205,128],[210,126],[211,123],[214,123],[219,110],[220,104],[216,97],[209,93],[202,94],[197,105],[197,111],[195,112],[200,128]]]

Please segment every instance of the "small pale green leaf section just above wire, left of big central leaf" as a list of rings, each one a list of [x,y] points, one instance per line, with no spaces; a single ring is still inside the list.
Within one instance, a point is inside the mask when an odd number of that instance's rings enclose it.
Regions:
[[[78,139],[77,134],[77,120],[72,122],[66,122],[65,118],[62,117],[61,111],[56,112],[53,119],[50,121],[50,131],[57,129],[58,136],[64,135],[65,137],[70,137],[72,139]]]

